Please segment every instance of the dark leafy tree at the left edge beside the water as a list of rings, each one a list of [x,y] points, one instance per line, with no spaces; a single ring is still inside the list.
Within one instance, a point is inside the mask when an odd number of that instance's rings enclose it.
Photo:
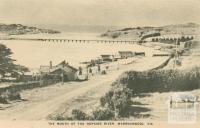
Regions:
[[[13,52],[4,44],[0,44],[0,75],[5,76],[6,73],[23,73],[28,71],[28,68],[14,64],[14,59],[11,58]]]

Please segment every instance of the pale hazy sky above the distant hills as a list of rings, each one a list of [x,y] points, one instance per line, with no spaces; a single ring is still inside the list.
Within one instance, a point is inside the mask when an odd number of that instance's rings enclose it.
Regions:
[[[200,0],[0,0],[0,23],[160,26],[200,23]]]

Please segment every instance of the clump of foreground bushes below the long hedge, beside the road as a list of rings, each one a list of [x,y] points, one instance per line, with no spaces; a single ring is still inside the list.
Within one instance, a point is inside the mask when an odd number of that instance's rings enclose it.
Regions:
[[[114,86],[105,96],[101,97],[101,106],[92,111],[91,115],[82,110],[72,110],[71,117],[57,115],[56,120],[113,120],[124,116],[131,105],[131,90],[125,86]]]

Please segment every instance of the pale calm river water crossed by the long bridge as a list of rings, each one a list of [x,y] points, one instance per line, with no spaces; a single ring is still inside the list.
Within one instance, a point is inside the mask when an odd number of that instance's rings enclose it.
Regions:
[[[43,37],[44,35],[24,35],[24,37]],[[95,34],[56,34],[48,35],[52,38],[69,38],[69,39],[97,39]],[[1,43],[7,45],[12,51],[12,57],[16,63],[25,65],[29,68],[39,68],[40,65],[48,65],[51,60],[53,64],[66,60],[72,66],[79,66],[80,62],[99,57],[101,54],[116,54],[118,51],[145,51],[152,53],[152,50],[138,46],[136,44],[113,44],[113,43],[74,43],[74,42],[42,42],[42,41],[25,41],[25,40],[2,40]],[[147,54],[148,55],[148,54]]]

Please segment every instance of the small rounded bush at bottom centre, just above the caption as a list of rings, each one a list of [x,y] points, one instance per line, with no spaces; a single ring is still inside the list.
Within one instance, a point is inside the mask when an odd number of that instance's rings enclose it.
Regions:
[[[114,118],[114,112],[110,109],[97,109],[93,111],[93,120],[110,120]]]

